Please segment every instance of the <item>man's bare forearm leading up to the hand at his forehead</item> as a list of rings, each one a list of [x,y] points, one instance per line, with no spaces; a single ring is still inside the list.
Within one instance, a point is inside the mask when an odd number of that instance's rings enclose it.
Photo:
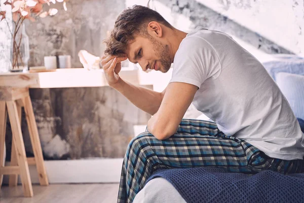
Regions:
[[[132,104],[150,115],[154,115],[162,103],[163,95],[161,92],[133,85],[121,78],[119,78],[117,84],[113,85],[112,88],[118,90]]]

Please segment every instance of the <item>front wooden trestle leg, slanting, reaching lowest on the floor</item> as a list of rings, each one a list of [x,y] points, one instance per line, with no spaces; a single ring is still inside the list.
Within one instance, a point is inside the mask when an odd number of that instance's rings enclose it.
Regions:
[[[27,158],[24,149],[23,137],[21,132],[21,125],[17,110],[16,101],[7,101],[7,108],[9,113],[9,118],[12,126],[13,139],[15,142],[15,149],[17,150],[17,160],[20,167],[20,177],[22,182],[22,189],[24,196],[33,196],[33,189],[31,185]]]

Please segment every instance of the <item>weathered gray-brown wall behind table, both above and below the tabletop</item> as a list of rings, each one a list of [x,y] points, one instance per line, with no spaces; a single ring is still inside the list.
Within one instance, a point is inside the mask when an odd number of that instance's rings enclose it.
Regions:
[[[59,10],[54,17],[26,23],[30,66],[43,65],[47,55],[68,54],[72,66],[81,67],[81,49],[101,55],[102,40],[125,2],[73,0],[67,3],[67,12],[61,4],[52,6]],[[109,87],[31,89],[30,95],[45,159],[123,157],[134,137],[133,125],[145,125],[149,119],[148,114]],[[24,112],[22,132],[26,152],[32,155]],[[9,160],[9,124],[6,143]]]

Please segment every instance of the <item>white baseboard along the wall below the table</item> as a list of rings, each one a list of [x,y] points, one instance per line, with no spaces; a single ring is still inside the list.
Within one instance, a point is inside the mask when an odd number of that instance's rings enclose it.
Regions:
[[[122,163],[123,158],[77,159],[45,161],[45,166],[49,183],[119,183]],[[32,183],[39,183],[35,165],[29,166],[29,172]],[[3,183],[9,183],[8,175]]]

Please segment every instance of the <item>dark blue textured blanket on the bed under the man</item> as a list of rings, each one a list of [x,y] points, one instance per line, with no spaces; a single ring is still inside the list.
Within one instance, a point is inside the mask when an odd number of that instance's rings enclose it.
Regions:
[[[157,171],[148,181],[157,177],[169,181],[186,202],[304,202],[304,173],[247,175],[196,167]]]

